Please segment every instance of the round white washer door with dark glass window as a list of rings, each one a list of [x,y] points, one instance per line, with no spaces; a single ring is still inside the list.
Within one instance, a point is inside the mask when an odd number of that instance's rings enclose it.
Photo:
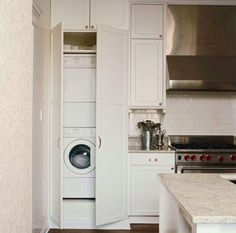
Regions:
[[[85,139],[71,142],[65,149],[64,161],[76,174],[86,174],[95,168],[95,145]]]

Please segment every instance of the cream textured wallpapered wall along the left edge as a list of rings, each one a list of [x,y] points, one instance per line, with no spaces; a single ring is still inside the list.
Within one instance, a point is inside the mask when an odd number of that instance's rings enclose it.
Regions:
[[[30,231],[32,8],[0,0],[0,232]]]

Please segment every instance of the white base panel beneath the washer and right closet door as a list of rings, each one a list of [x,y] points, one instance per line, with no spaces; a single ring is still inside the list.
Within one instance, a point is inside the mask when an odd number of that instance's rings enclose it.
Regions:
[[[97,227],[95,218],[86,217],[65,217],[63,219],[63,229],[107,229],[107,230],[130,230],[128,219],[112,224]]]

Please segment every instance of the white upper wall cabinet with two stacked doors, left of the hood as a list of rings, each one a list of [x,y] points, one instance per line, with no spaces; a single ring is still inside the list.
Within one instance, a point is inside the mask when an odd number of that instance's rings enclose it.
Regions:
[[[163,5],[131,6],[130,108],[163,109]]]

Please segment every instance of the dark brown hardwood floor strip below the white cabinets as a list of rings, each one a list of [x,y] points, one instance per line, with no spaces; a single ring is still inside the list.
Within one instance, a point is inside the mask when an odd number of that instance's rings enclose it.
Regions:
[[[131,224],[131,230],[58,230],[51,229],[49,233],[158,233],[156,224]]]

